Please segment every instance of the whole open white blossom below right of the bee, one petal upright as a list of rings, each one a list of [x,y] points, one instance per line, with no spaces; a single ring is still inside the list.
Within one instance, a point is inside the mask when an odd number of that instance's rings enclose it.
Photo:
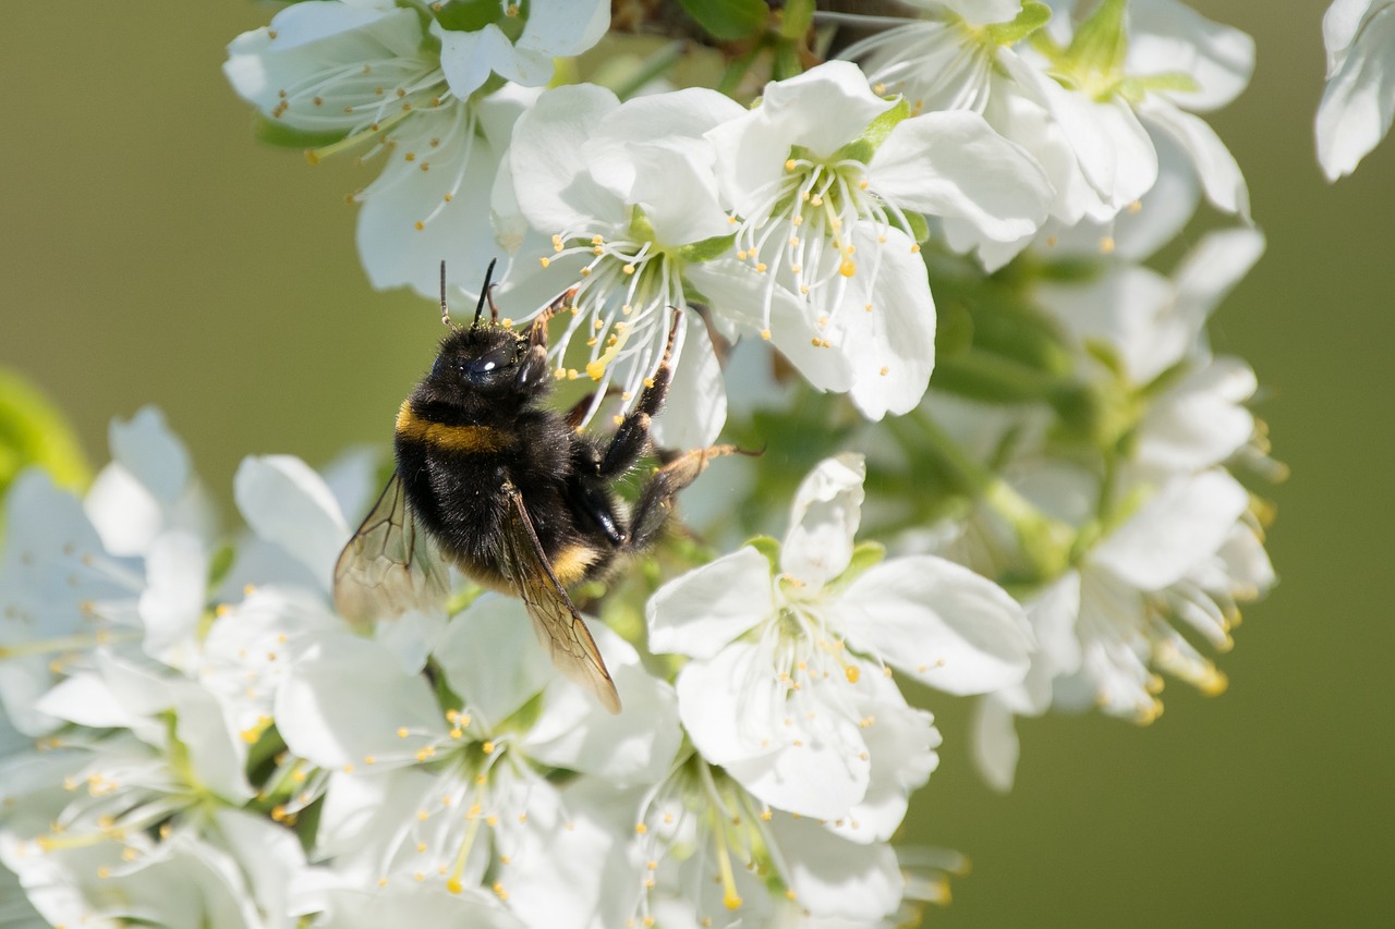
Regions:
[[[840,579],[862,476],[861,456],[823,462],[795,498],[777,576],[742,548],[665,584],[649,628],[651,649],[693,658],[678,709],[704,759],[771,806],[886,837],[939,742],[929,716],[880,679],[889,665],[983,693],[1021,681],[1030,640],[1007,594],[943,559],[864,562]]]

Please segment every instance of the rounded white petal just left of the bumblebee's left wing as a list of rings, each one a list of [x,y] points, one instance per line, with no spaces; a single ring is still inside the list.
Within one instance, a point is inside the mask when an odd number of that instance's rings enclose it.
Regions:
[[[314,469],[290,455],[244,458],[233,495],[252,531],[285,548],[329,589],[349,527]]]

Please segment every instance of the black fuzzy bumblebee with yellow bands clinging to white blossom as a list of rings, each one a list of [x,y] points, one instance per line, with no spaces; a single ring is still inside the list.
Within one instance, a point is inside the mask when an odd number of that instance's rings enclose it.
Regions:
[[[614,485],[650,452],[649,425],[664,405],[681,312],[663,360],[615,434],[578,428],[580,405],[543,405],[552,384],[547,324],[575,289],[526,332],[499,324],[485,272],[474,322],[451,322],[441,266],[441,340],[431,371],[398,411],[396,471],[335,565],[335,607],[350,622],[441,608],[445,564],[477,583],[523,598],[538,642],[573,682],[619,711],[615,682],[566,589],[603,579],[661,533],[674,495],[732,446],[678,455],[650,474],[633,506]],[[484,304],[490,321],[481,325]]]

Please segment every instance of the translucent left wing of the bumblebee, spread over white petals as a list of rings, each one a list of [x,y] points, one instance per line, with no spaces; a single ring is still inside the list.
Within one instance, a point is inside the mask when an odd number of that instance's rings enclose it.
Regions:
[[[417,527],[396,473],[335,562],[335,608],[349,622],[371,626],[410,610],[445,607],[449,571],[430,536]]]

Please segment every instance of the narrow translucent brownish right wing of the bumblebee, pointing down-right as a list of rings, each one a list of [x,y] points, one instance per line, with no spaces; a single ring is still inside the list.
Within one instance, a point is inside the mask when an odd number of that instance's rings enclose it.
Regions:
[[[611,713],[619,713],[619,693],[605,670],[596,640],[572,598],[557,580],[552,565],[543,552],[533,520],[523,506],[523,497],[512,484],[504,485],[509,497],[508,523],[504,531],[504,564],[519,597],[533,619],[533,630],[552,664],[578,686],[596,695]]]

